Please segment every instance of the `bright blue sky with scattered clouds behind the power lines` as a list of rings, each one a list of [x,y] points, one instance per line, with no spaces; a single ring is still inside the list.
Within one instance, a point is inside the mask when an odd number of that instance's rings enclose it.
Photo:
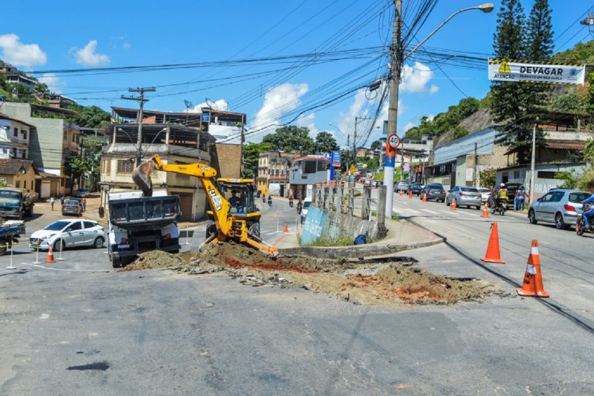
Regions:
[[[441,0],[411,45],[453,12],[482,2]],[[403,0],[405,24],[412,24],[421,3]],[[485,96],[486,61],[482,67],[476,62],[465,67],[460,57],[440,61],[439,54],[487,58],[500,1],[494,4],[490,14],[466,11],[441,28],[422,47],[432,57],[419,50],[406,60],[399,134],[466,96]],[[528,13],[533,1],[522,4]],[[549,4],[556,50],[593,38],[579,24],[591,1]],[[33,1],[27,11],[8,2],[2,5],[2,14],[10,17],[0,27],[0,59],[26,72],[43,72],[35,77],[50,90],[85,106],[136,107],[120,97],[129,96],[130,87],[154,86],[147,109],[199,111],[208,98],[219,109],[246,113],[247,141],[260,141],[275,124],[291,123],[307,126],[312,137],[331,132],[344,145],[346,135],[352,138],[356,116],[372,118],[379,108],[377,125],[387,119],[386,103],[379,103],[381,89],[359,87],[386,75],[381,47],[391,42],[393,13],[391,0]],[[188,65],[96,71],[174,64]],[[383,136],[365,119],[357,128],[358,145]]]

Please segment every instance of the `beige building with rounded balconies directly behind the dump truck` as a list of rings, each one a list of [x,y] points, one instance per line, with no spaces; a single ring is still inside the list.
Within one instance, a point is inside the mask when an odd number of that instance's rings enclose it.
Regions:
[[[103,147],[99,182],[103,205],[109,191],[135,188],[131,176],[138,153],[137,124],[115,123],[109,128],[110,144]],[[165,164],[211,163],[214,138],[197,128],[170,123],[143,123],[141,138],[143,159],[159,154]],[[206,193],[198,178],[156,171],[151,179],[154,189],[165,189],[168,194],[179,195],[181,220],[198,220],[206,215]]]

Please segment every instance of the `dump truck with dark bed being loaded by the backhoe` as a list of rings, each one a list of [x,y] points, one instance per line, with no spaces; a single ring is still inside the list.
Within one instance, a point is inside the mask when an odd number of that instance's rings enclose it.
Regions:
[[[167,195],[166,191],[156,191],[152,197],[144,197],[142,191],[109,192],[108,254],[112,267],[125,267],[144,252],[178,253],[180,214],[179,196]],[[100,216],[105,216],[103,208]]]

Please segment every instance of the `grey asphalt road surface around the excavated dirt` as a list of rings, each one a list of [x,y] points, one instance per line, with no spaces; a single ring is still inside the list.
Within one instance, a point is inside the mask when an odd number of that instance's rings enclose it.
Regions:
[[[0,258],[0,394],[594,394],[587,263],[560,260],[561,249],[583,257],[577,251],[592,240],[505,216],[508,264],[479,265],[488,222],[466,210],[424,218],[421,209],[447,208],[417,204],[396,198],[394,208],[418,208],[415,220],[451,245],[404,253],[436,273],[494,282],[500,294],[453,306],[361,306],[225,275],[116,273],[96,249],[21,264],[34,254],[17,246],[16,270]],[[261,210],[270,238],[277,219],[296,217],[280,200]],[[517,297],[510,284],[522,281],[533,237],[542,239],[549,300]]]

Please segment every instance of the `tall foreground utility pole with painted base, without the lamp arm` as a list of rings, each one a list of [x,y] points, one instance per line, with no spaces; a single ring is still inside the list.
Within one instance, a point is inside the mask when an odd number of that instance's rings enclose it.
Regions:
[[[398,84],[400,83],[400,65],[402,64],[402,44],[400,43],[400,29],[402,25],[402,0],[394,0],[396,12],[394,12],[394,30],[392,32],[392,45],[390,46],[390,102],[388,103],[388,128],[387,137],[396,135],[396,121],[398,118]],[[386,139],[386,150],[388,147]],[[402,143],[401,143],[402,144]],[[386,153],[386,154],[391,154]],[[402,152],[403,154],[403,152]],[[392,204],[394,200],[394,162],[390,156],[386,156],[384,162],[384,186],[386,186],[386,216],[392,217]],[[402,169],[402,168],[401,168]]]

